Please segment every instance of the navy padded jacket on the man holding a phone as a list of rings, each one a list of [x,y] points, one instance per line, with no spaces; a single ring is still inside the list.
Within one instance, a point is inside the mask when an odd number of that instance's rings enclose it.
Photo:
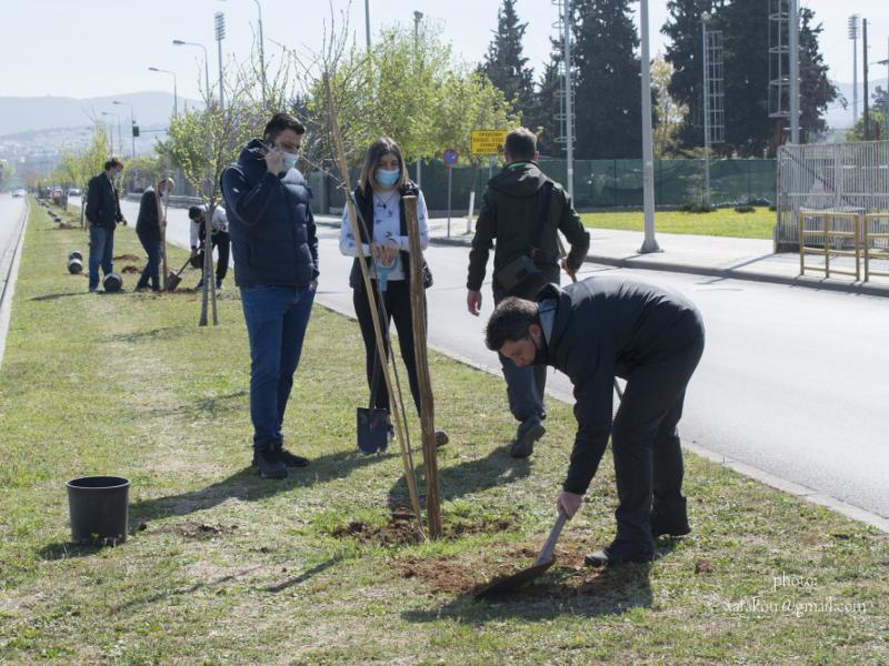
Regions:
[[[239,286],[304,286],[318,278],[311,190],[296,169],[273,175],[254,139],[221,176]]]

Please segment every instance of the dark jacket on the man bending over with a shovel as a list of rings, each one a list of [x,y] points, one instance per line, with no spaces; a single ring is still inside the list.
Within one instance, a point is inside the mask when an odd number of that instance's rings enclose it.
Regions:
[[[538,301],[557,302],[546,363],[575,386],[578,431],[563,488],[582,495],[611,434],[615,376],[703,344],[703,321],[679,292],[630,279],[597,276],[560,289],[543,287]]]

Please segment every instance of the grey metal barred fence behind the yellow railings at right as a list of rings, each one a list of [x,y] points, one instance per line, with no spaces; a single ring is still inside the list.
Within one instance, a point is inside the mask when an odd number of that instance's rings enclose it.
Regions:
[[[889,141],[785,145],[778,154],[776,251],[798,251],[800,213],[889,212]],[[849,222],[847,222],[848,226]],[[846,231],[853,231],[848,229]],[[877,219],[871,248],[885,248],[889,221]]]

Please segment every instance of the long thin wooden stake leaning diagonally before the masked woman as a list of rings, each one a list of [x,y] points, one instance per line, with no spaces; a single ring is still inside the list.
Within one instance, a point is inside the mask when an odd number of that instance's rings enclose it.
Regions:
[[[368,304],[370,305],[370,317],[373,321],[373,335],[377,339],[377,356],[380,360],[382,367],[382,376],[386,380],[386,389],[389,391],[389,400],[394,401],[396,392],[392,390],[392,379],[389,375],[388,356],[386,355],[386,347],[382,344],[382,327],[380,326],[379,310],[377,309],[377,297],[373,293],[373,286],[370,283],[370,272],[368,271],[367,259],[364,258],[364,246],[361,243],[361,230],[358,228],[358,215],[354,210],[354,201],[352,200],[351,185],[349,183],[349,163],[346,161],[346,149],[342,144],[342,134],[340,133],[339,121],[337,120],[337,107],[333,103],[333,93],[330,89],[330,78],[327,73],[323,74],[324,97],[327,99],[328,113],[330,114],[330,133],[333,135],[333,143],[337,151],[337,163],[339,164],[340,174],[342,175],[342,189],[346,194],[346,205],[349,209],[349,222],[352,226],[352,235],[356,239],[356,258],[358,265],[361,268],[361,276],[364,281],[364,292],[368,296]],[[370,239],[368,239],[370,240]],[[404,463],[404,480],[408,482],[408,493],[410,494],[411,506],[417,516],[417,526],[420,535],[426,538],[426,529],[423,528],[423,516],[420,511],[420,498],[417,494],[417,478],[413,473],[413,461],[411,460],[410,450],[407,445],[404,436],[406,424],[401,421],[401,411],[398,408],[392,410],[392,416],[396,425],[396,434],[398,435],[398,443],[401,447],[401,458]]]

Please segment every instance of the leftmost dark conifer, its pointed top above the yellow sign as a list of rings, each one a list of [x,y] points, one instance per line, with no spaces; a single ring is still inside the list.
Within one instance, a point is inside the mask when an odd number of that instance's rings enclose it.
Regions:
[[[532,114],[535,84],[533,70],[527,67],[528,59],[522,56],[521,47],[528,23],[519,22],[516,1],[503,0],[497,12],[497,32],[479,70],[503,91],[525,119]]]

